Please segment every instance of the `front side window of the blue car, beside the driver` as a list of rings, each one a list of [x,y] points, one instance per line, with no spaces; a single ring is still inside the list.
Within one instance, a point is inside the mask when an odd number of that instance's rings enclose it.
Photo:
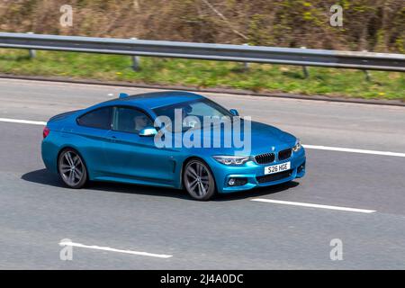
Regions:
[[[153,127],[153,122],[145,113],[125,107],[115,110],[114,130],[138,133],[146,127]]]

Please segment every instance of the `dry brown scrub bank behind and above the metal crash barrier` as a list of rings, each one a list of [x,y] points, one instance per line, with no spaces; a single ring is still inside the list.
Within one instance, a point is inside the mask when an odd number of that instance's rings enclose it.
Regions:
[[[329,25],[331,4],[343,28]],[[59,25],[71,4],[73,26]],[[1,31],[252,45],[405,51],[403,0],[18,0],[0,2]]]

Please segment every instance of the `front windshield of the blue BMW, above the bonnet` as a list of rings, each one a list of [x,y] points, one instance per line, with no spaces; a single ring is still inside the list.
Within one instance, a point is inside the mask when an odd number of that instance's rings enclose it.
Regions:
[[[197,125],[197,122],[203,123],[204,117],[228,118],[229,120],[233,117],[228,110],[209,99],[175,103],[173,105],[156,108],[153,111],[157,114],[157,117],[166,116],[174,123],[176,110],[177,113],[181,113],[182,116],[182,130],[200,127],[200,125]]]

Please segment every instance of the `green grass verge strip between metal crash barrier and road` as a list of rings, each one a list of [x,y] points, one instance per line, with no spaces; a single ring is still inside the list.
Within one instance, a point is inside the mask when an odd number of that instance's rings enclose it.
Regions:
[[[22,49],[0,49],[0,73],[24,76],[69,76],[80,79],[126,81],[150,85],[229,87],[255,92],[323,94],[376,99],[405,100],[403,73],[309,67],[305,79],[301,67],[201,61],[170,58],[141,58],[141,69],[132,70],[130,57],[37,51],[30,59]]]

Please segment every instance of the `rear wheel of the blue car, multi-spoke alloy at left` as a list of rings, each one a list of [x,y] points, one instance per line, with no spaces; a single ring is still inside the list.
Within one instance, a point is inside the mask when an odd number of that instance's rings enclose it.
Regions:
[[[85,161],[74,149],[67,148],[60,153],[58,171],[62,181],[70,188],[82,188],[87,182]]]

